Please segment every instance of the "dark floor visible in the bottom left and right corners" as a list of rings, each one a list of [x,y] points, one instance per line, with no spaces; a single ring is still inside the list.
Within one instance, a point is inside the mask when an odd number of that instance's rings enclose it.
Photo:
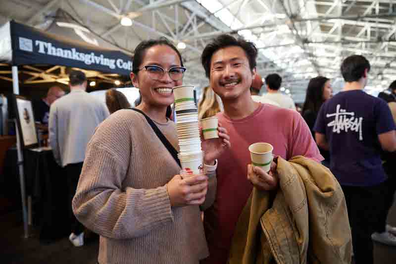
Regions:
[[[83,247],[71,245],[67,237],[51,243],[39,240],[36,230],[31,237],[23,238],[23,225],[19,211],[0,216],[1,264],[96,264],[99,240],[92,239]],[[396,226],[396,203],[388,215],[388,223]],[[374,242],[374,264],[396,264],[396,247]]]

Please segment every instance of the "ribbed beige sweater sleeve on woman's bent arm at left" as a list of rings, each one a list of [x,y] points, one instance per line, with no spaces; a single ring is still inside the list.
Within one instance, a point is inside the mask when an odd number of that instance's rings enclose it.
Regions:
[[[114,155],[89,146],[73,211],[79,221],[102,236],[143,236],[173,218],[166,186],[122,190],[125,173]]]

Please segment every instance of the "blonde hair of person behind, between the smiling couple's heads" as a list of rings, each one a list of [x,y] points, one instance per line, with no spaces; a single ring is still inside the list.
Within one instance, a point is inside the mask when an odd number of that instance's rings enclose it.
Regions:
[[[203,88],[202,98],[198,103],[198,119],[212,117],[221,111],[219,99],[210,86]]]

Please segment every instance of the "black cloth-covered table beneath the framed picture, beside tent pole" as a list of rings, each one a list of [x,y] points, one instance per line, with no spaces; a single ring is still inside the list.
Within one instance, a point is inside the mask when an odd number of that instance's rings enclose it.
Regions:
[[[33,222],[40,227],[40,240],[69,235],[67,175],[54,160],[49,148],[24,152],[26,192],[32,196]]]

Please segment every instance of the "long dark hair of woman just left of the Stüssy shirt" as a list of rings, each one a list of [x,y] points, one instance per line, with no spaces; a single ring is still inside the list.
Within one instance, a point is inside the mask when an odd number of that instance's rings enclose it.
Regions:
[[[306,110],[311,110],[313,113],[319,112],[320,106],[322,106],[324,102],[324,86],[328,80],[330,79],[323,76],[317,76],[309,81],[301,113],[304,113]]]

